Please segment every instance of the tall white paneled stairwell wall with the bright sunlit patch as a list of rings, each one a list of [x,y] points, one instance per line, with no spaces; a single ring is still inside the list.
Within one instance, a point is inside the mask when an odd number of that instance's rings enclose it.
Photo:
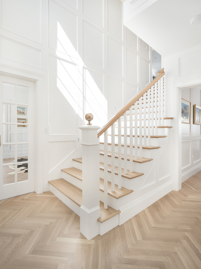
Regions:
[[[81,157],[84,115],[102,126],[150,82],[151,48],[123,26],[120,0],[1,4],[0,72],[36,81],[37,173],[47,191]]]

